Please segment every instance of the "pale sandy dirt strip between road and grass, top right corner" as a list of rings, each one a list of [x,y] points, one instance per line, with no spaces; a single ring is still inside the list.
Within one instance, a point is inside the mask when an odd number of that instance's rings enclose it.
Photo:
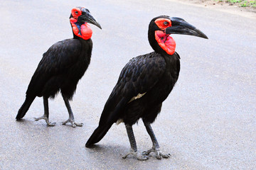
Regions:
[[[169,1],[178,1],[178,0],[169,0]],[[235,15],[256,19],[256,8],[253,8],[253,7],[240,7],[236,4],[229,4],[227,2],[212,1],[212,0],[183,0],[178,2],[182,4],[202,6],[204,8],[213,8],[217,11],[225,11],[227,13],[233,13]]]

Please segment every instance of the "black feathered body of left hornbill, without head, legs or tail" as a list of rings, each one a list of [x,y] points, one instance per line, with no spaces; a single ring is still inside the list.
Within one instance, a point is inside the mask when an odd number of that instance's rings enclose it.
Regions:
[[[78,81],[90,64],[92,40],[68,39],[56,42],[43,54],[33,74],[26,97],[54,98],[58,91],[72,98]]]

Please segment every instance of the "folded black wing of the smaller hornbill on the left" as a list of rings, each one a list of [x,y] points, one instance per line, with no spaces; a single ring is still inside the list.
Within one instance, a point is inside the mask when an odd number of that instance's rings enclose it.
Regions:
[[[81,50],[82,45],[76,39],[63,40],[52,45],[43,54],[28,85],[26,96],[41,96],[43,86],[48,80],[68,72],[68,68],[77,62]]]

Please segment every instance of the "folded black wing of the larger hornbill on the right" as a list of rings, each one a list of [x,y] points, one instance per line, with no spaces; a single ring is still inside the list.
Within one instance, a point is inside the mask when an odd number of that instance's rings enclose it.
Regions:
[[[130,60],[119,76],[116,86],[102,111],[99,125],[114,123],[120,111],[138,94],[149,91],[161,79],[166,69],[164,57],[151,52]]]

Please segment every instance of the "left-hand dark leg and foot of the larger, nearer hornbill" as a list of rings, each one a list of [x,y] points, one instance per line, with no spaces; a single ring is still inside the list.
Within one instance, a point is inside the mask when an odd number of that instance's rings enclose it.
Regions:
[[[129,154],[132,154],[132,155],[134,155],[134,157],[136,157],[137,159],[139,159],[141,161],[144,161],[144,160],[148,159],[149,157],[147,157],[146,155],[142,155],[142,154],[139,154],[137,152],[137,145],[136,145],[134,133],[133,133],[133,130],[132,130],[132,126],[131,125],[125,125],[125,128],[127,129],[127,135],[129,137],[129,142],[130,142],[130,145],[131,145],[131,151],[128,154],[124,155],[122,158],[126,159]]]

